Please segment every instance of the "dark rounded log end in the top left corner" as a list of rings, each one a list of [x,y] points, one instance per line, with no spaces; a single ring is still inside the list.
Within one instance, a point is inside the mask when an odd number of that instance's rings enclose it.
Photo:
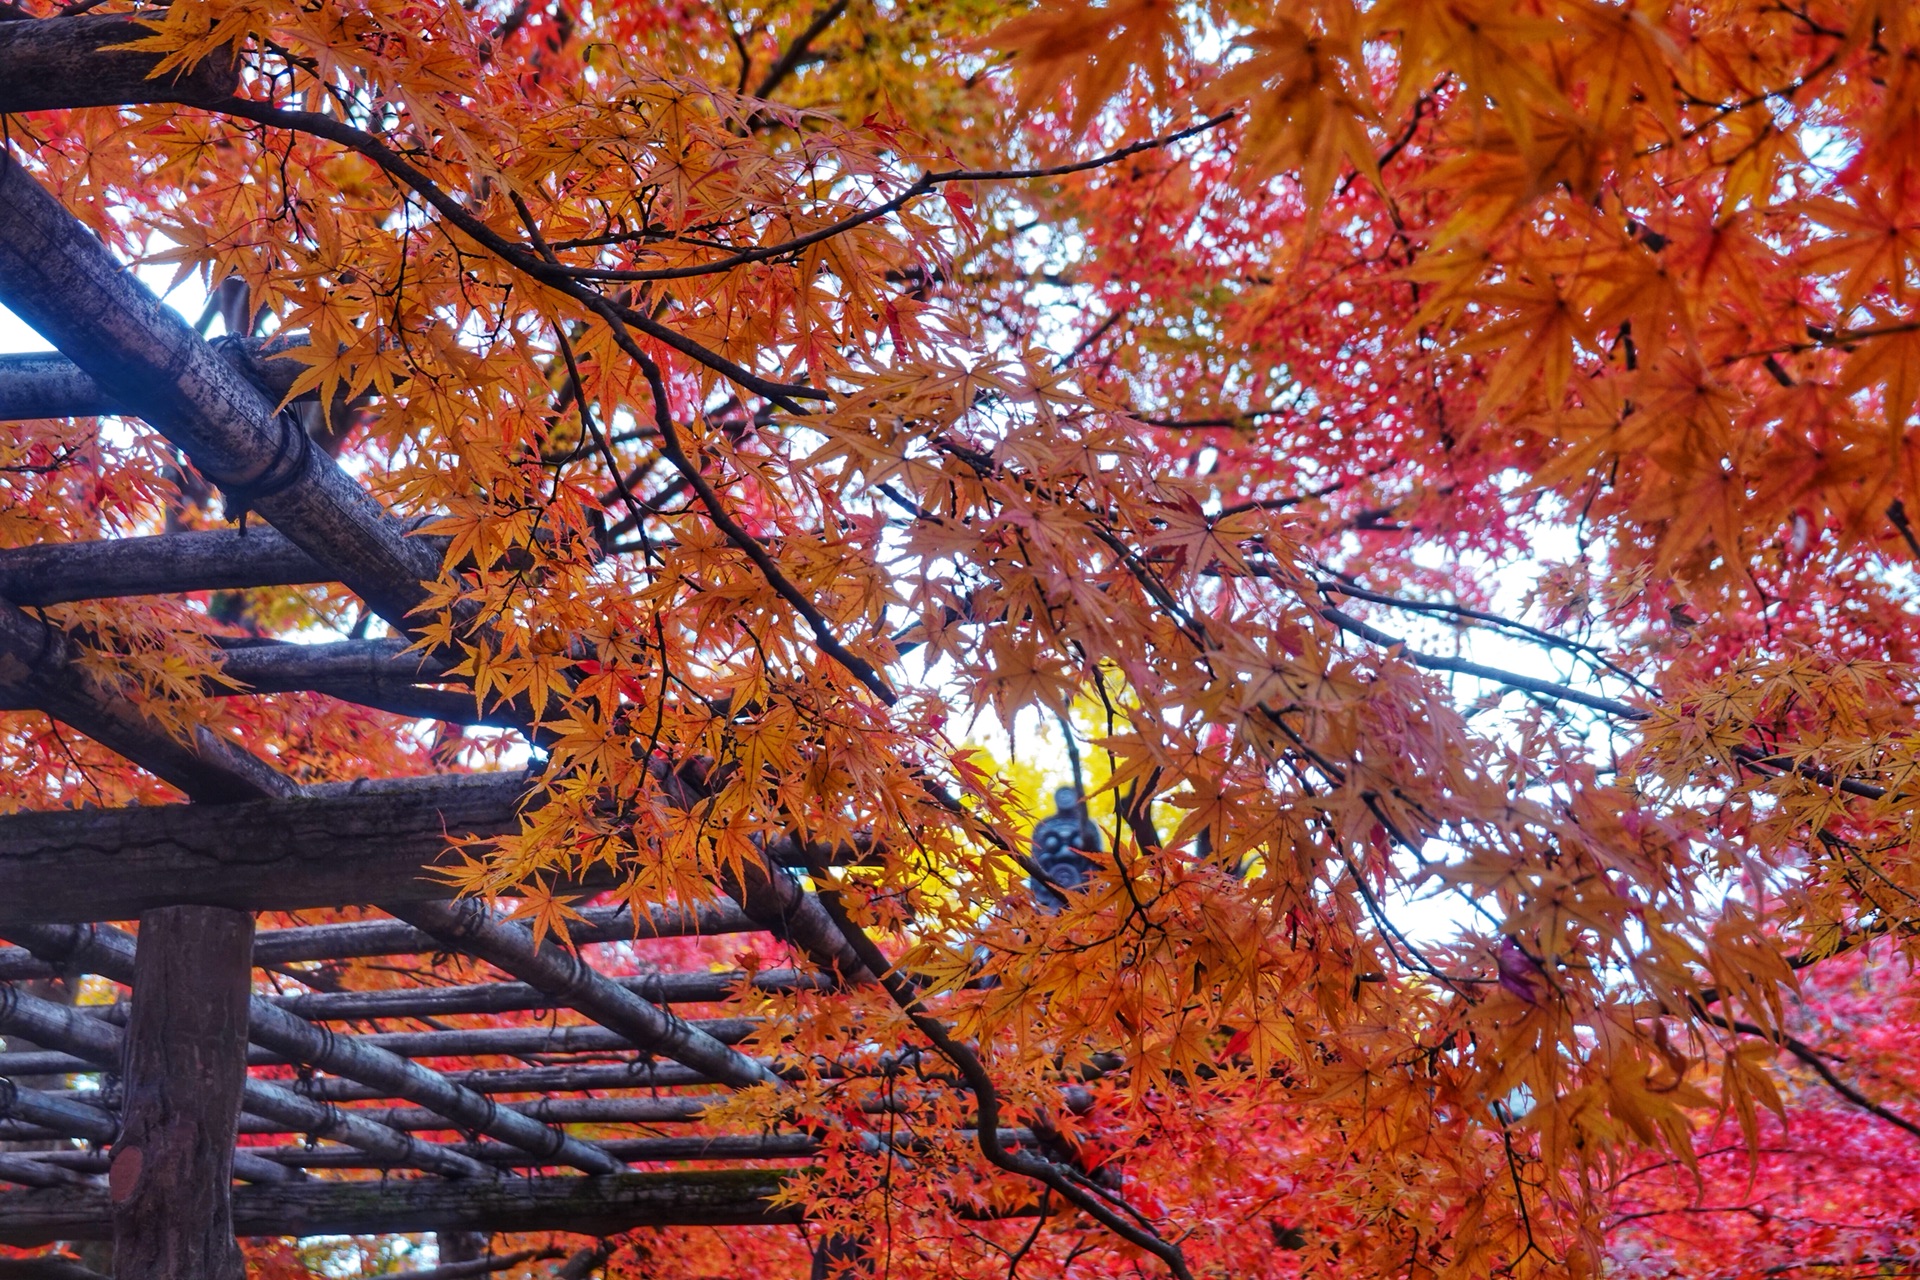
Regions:
[[[240,84],[228,54],[152,77],[159,54],[117,50],[154,35],[131,17],[40,17],[0,23],[0,111],[219,102]],[[152,79],[150,79],[152,77]]]

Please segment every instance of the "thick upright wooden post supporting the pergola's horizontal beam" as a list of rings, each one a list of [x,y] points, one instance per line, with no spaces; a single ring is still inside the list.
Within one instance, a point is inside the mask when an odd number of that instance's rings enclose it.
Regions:
[[[108,1169],[115,1280],[246,1280],[230,1192],[252,986],[252,913],[169,906],[140,917]]]

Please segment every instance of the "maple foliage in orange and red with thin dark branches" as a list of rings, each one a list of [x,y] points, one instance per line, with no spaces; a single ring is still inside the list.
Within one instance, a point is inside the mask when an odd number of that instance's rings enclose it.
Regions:
[[[409,639],[528,731],[215,697],[209,637],[365,633],[344,587],[48,614],[301,783],[532,739],[453,883],[541,935],[595,871],[856,850],[810,879],[879,981],[756,998],[799,1079],[712,1113],[826,1134],[822,1230],[885,1274],[1910,1263],[1912,6],[144,21],[238,92],[10,117],[15,163],[298,336],[286,397],[445,539]],[[10,545],[227,516],[131,418],[0,470]],[[1060,913],[977,731],[1037,714],[1110,850]],[[0,752],[21,808],[171,794],[35,714]],[[876,1046],[939,1063],[912,1105],[806,1073]],[[808,1257],[607,1265],[743,1249]]]

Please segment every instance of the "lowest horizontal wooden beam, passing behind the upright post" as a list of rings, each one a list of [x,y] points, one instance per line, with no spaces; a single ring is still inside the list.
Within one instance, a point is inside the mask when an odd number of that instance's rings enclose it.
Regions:
[[[611,1236],[636,1226],[756,1226],[799,1222],[774,1209],[783,1184],[774,1169],[626,1173],[557,1178],[380,1178],[238,1186],[234,1230],[242,1236],[390,1236],[407,1232],[580,1232]],[[0,1194],[0,1244],[102,1240],[106,1188]]]

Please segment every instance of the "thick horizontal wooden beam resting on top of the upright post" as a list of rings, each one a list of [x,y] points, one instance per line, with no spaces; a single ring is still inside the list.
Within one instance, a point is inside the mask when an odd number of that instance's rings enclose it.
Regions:
[[[0,818],[0,923],[132,919],[156,906],[307,910],[444,898],[447,835],[511,831],[518,773],[250,804]]]

